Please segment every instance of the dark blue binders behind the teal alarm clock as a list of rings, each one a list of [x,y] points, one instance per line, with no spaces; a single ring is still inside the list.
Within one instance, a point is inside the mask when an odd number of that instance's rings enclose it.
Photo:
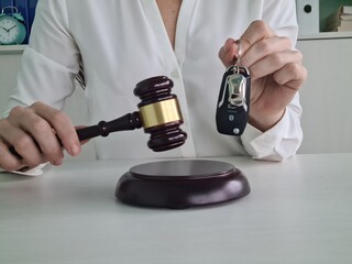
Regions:
[[[4,7],[15,7],[19,10],[19,12],[23,15],[25,29],[28,32],[23,44],[29,43],[29,35],[31,34],[36,2],[37,0],[0,0],[0,11]],[[7,13],[9,13],[9,11],[11,10],[10,9],[6,10]]]

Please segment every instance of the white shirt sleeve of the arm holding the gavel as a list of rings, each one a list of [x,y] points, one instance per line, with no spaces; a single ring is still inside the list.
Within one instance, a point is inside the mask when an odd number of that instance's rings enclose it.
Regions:
[[[63,109],[74,91],[79,70],[79,50],[68,32],[65,1],[40,0],[31,38],[22,55],[16,85],[8,101],[8,116],[14,106],[43,101]]]

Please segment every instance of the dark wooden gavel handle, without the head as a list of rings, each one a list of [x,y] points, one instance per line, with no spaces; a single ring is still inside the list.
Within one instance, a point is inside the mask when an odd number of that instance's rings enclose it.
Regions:
[[[100,121],[96,125],[86,127],[82,129],[77,129],[77,135],[79,141],[89,140],[96,136],[108,136],[111,132],[124,131],[124,130],[134,130],[142,128],[142,121],[140,119],[139,112],[128,113],[122,116],[121,118],[114,119],[112,121],[106,122]],[[61,145],[62,142],[58,139]],[[10,152],[16,156],[18,158],[22,158],[22,156],[14,150],[13,146],[9,147]]]

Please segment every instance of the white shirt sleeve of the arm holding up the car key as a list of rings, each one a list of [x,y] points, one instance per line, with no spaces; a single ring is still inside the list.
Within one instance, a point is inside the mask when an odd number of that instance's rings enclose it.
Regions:
[[[263,20],[277,35],[288,36],[295,48],[298,35],[296,6],[294,0],[264,1]],[[248,124],[242,144],[253,158],[283,161],[296,154],[302,141],[300,127],[301,106],[297,94],[286,107],[280,121],[266,132]]]

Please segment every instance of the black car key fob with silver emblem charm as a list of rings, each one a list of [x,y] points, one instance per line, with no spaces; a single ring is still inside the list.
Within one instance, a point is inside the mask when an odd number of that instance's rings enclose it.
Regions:
[[[241,135],[249,121],[251,76],[245,67],[231,66],[222,77],[217,105],[217,129],[221,134]]]

